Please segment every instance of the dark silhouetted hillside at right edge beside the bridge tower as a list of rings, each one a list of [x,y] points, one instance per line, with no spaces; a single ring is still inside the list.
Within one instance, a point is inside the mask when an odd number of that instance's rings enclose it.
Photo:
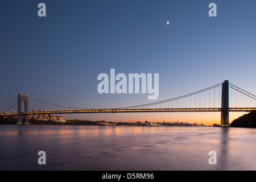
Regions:
[[[256,111],[251,111],[248,114],[234,119],[230,124],[231,127],[251,127],[256,128]]]

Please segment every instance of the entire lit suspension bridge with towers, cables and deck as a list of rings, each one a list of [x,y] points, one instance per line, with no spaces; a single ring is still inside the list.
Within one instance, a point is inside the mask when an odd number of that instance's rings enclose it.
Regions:
[[[48,114],[73,113],[150,113],[150,112],[221,112],[221,125],[229,126],[229,112],[256,110],[256,96],[230,84],[228,80],[184,96],[129,107],[92,109],[69,107],[19,93],[0,111],[0,116],[17,116],[17,123],[28,123],[28,115],[42,118]]]

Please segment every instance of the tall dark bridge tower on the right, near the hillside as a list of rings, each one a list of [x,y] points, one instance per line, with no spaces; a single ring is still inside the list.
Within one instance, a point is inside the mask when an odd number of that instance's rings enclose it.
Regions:
[[[222,83],[221,93],[221,125],[229,126],[229,81]]]

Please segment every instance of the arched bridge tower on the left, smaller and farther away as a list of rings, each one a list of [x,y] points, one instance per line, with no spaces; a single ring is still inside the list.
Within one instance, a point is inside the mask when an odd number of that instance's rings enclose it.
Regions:
[[[24,102],[24,110],[22,110],[23,102]],[[22,124],[22,118],[23,118],[22,113],[23,112],[28,112],[28,95],[19,93],[18,94],[18,120],[17,120],[17,124]],[[25,118],[25,124],[28,124],[28,115],[25,115],[24,118]]]

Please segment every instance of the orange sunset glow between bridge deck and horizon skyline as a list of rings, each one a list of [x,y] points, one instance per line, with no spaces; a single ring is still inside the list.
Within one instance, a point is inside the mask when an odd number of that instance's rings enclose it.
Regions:
[[[246,112],[229,112],[229,123]],[[68,114],[67,119],[86,119],[89,121],[112,121],[112,122],[188,122],[199,123],[207,126],[220,125],[220,112],[200,113],[102,113],[102,114]]]

